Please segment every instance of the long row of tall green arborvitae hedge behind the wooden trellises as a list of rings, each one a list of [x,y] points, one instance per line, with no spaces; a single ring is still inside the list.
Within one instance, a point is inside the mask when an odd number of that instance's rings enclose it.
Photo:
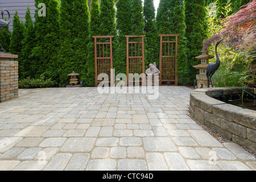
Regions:
[[[205,1],[207,1],[205,5],[215,2],[215,0]],[[219,9],[227,1],[218,0]],[[230,0],[236,9],[233,13],[250,1],[252,0]],[[192,82],[195,77],[194,71],[196,72],[192,65],[197,64],[194,62],[195,59],[193,61],[193,57],[200,54],[201,42],[204,39],[200,26],[198,26],[204,19],[203,0],[186,0],[186,11],[183,1],[160,0],[156,20],[152,0],[144,0],[144,7],[142,0],[119,0],[116,6],[116,19],[114,8],[116,1],[101,0],[100,6],[98,0],[93,0],[90,15],[87,2],[88,0],[35,0],[36,7],[39,3],[46,4],[46,16],[39,16],[40,8],[38,8],[35,13],[34,27],[30,17],[27,16],[26,31],[18,15],[15,14],[11,40],[9,40],[10,31],[4,29],[0,32],[0,42],[6,51],[18,53],[21,66],[20,78],[27,76],[36,78],[43,73],[46,78],[51,77],[52,80],[56,80],[57,85],[65,86],[69,84],[68,73],[75,71],[80,73],[84,86],[94,86],[93,35],[115,36],[113,39],[115,73],[126,73],[126,38],[124,35],[146,34],[147,68],[147,61],[150,63],[155,61],[157,64],[159,61],[159,36],[157,34],[180,34],[177,57],[179,84]],[[186,22],[185,18],[187,18]],[[185,23],[187,23],[187,30]],[[33,28],[35,35],[33,35]],[[24,39],[23,36],[25,36]],[[36,44],[33,44],[33,39]],[[9,41],[10,48],[8,48]]]

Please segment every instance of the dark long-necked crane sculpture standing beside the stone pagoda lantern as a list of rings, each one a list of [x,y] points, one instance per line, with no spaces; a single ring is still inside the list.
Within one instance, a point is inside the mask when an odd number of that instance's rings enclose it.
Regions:
[[[220,44],[222,40],[218,41],[215,46],[215,53],[216,53],[216,59],[217,59],[216,63],[210,63],[207,67],[207,83],[208,83],[207,87],[208,88],[210,87],[210,83],[212,84],[213,74],[217,71],[218,67],[220,67],[220,59],[218,57],[217,47],[218,47],[218,44]],[[212,84],[212,88],[213,88],[213,84]]]

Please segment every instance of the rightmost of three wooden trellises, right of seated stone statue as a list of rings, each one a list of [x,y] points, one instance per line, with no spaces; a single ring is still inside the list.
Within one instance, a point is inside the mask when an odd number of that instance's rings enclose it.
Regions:
[[[160,85],[177,85],[177,34],[160,34],[159,82]],[[163,40],[163,37],[175,40]]]

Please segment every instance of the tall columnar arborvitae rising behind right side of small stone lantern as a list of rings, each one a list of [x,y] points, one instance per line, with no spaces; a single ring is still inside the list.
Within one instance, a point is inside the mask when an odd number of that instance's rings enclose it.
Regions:
[[[85,64],[89,43],[89,8],[88,0],[74,0],[73,3],[73,34],[75,39],[73,49],[75,51],[74,69],[80,75],[85,73]]]

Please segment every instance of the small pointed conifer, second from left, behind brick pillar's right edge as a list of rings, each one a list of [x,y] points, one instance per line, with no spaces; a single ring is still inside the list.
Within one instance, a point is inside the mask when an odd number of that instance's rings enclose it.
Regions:
[[[24,32],[24,24],[19,19],[18,11],[15,11],[13,18],[13,32],[11,32],[10,39],[10,52],[14,55],[18,55],[19,59],[22,57],[22,40]]]

